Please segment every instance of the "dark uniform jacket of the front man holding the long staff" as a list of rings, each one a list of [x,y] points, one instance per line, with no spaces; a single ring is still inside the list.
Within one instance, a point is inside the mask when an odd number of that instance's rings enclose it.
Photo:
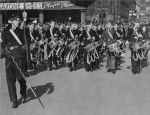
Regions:
[[[1,57],[7,57],[8,53],[5,49],[7,48],[11,55],[14,58],[26,58],[26,49],[25,49],[25,40],[23,30],[20,28],[16,28],[13,30],[14,33],[18,36],[19,40],[22,42],[22,45],[19,45],[14,36],[10,33],[10,31],[6,31],[2,33],[2,54]]]

